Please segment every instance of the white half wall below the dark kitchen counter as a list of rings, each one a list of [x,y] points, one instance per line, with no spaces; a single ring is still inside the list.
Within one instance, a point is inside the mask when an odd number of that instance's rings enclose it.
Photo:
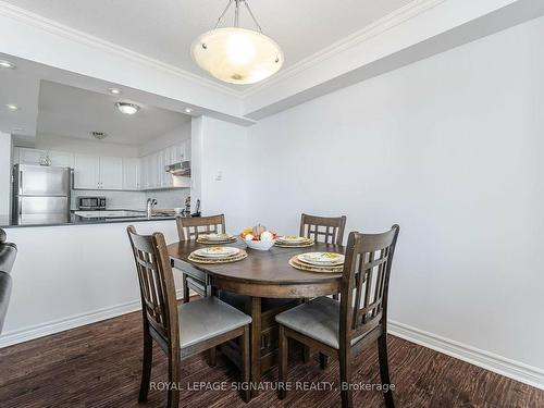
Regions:
[[[139,308],[128,224],[5,230],[18,254],[0,347]],[[177,240],[174,220],[134,225],[140,234],[160,231],[166,243]],[[181,290],[181,273],[174,277]]]

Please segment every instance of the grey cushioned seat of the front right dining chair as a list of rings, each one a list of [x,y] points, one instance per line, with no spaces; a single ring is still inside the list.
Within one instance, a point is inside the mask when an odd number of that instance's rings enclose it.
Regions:
[[[339,301],[318,297],[275,317],[277,323],[339,349]],[[351,339],[351,345],[363,335]]]

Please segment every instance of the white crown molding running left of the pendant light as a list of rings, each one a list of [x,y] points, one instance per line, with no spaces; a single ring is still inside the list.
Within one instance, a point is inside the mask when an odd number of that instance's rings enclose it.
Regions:
[[[53,20],[46,18],[39,14],[29,12],[25,9],[13,5],[11,3],[7,3],[5,1],[1,0],[0,0],[0,15],[17,20],[24,24],[28,24],[30,26],[47,30],[67,40],[94,47],[100,49],[101,51],[106,51],[128,59],[131,61],[150,66],[154,70],[159,70],[169,74],[180,76],[185,81],[193,82],[201,86],[206,86],[215,91],[220,91],[222,94],[226,94],[228,96],[234,96],[237,98],[243,97],[243,92],[239,90],[233,89],[225,85],[218,84],[211,79],[203,78],[199,75],[193,74],[175,65],[156,60],[153,58],[144,55],[139,52],[118,46],[116,44],[79,32],[75,28],[69,27],[64,24],[60,24]]]

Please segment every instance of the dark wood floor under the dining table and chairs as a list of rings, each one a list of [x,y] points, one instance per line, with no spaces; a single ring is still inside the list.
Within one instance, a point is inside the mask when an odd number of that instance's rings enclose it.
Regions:
[[[138,407],[140,314],[74,329],[0,349],[0,407]],[[166,379],[166,360],[154,349],[152,381]],[[356,360],[355,381],[379,383],[376,350]],[[397,407],[544,407],[544,392],[508,380],[443,354],[390,336],[392,380]],[[210,368],[197,356],[182,364],[182,385],[237,381],[237,372],[221,355]],[[337,382],[332,361],[321,371],[316,357],[290,364],[289,381]],[[276,371],[264,376],[273,382]],[[165,392],[151,391],[140,407],[163,407]],[[356,407],[384,407],[380,392],[355,394]],[[281,403],[273,391],[245,405],[236,392],[183,391],[181,407],[336,407],[338,392],[290,392]]]

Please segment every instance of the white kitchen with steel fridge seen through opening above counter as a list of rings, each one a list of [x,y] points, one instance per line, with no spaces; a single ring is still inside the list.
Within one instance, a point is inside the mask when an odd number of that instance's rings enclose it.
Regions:
[[[1,225],[198,214],[199,202],[195,211],[190,202],[191,116],[123,102],[115,91],[41,82],[36,135],[11,135],[10,214]],[[85,113],[66,120],[71,107]]]

